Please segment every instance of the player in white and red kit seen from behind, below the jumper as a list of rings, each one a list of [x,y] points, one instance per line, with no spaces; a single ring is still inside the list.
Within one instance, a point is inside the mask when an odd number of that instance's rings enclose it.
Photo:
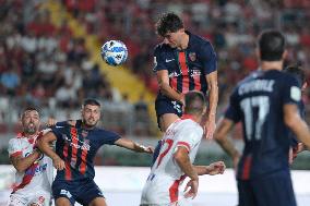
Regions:
[[[200,121],[206,106],[204,95],[200,92],[189,92],[184,100],[182,119],[174,122],[164,135],[159,155],[142,191],[141,206],[189,206],[191,204],[188,198],[195,197],[198,193],[198,175],[214,175],[225,170],[223,161],[210,166],[192,165],[203,137]],[[179,196],[179,186],[187,177],[190,181],[187,183],[186,194]]]

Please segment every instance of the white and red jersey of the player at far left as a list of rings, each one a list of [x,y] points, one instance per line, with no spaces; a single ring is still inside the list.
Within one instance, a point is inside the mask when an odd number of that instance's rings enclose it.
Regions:
[[[37,136],[28,138],[19,134],[16,137],[9,142],[9,156],[27,157],[33,153],[36,141],[39,136],[47,133],[48,130],[44,130],[38,133]],[[29,168],[24,172],[15,173],[15,183],[13,186],[13,194],[27,196],[34,191],[43,193],[51,192],[52,183],[52,160],[46,155],[41,155]]]

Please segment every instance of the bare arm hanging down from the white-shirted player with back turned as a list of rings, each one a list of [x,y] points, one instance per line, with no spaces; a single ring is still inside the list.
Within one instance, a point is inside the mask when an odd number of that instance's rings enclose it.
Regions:
[[[190,161],[187,148],[178,147],[177,152],[174,155],[174,158],[181,170],[184,172],[184,174],[191,179],[187,183],[184,191],[188,191],[188,189],[190,190],[184,194],[184,196],[194,198],[198,193],[199,178],[194,166]]]

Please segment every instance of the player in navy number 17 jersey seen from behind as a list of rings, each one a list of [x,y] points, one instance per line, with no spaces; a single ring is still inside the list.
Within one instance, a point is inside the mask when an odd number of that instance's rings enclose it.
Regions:
[[[263,32],[258,47],[260,69],[237,85],[214,137],[237,165],[239,153],[227,134],[242,122],[246,145],[237,169],[239,206],[296,206],[289,132],[310,148],[310,132],[298,111],[300,84],[282,72],[286,50],[279,32]]]

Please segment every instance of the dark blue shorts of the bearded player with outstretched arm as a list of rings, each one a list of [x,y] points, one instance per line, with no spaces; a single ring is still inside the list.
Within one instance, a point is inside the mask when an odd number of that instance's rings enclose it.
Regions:
[[[74,205],[75,201],[81,205],[90,205],[94,198],[105,197],[94,180],[56,180],[51,189],[55,201],[59,197],[65,197],[70,201],[71,205]]]

